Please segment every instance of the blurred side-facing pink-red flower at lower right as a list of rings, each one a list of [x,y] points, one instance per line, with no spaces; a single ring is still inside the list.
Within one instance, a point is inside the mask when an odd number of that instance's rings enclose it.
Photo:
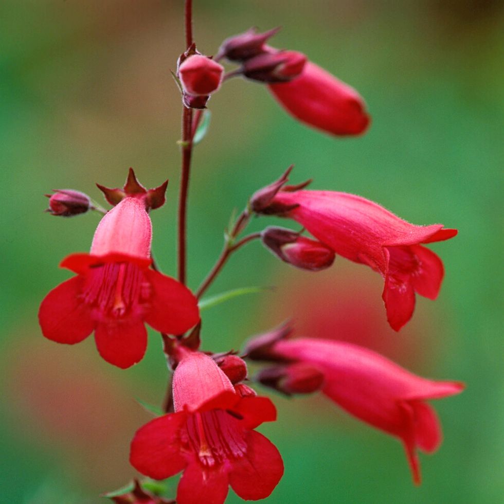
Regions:
[[[410,373],[363,347],[334,340],[281,340],[280,357],[316,366],[325,377],[322,392],[351,415],[398,437],[404,444],[413,481],[420,484],[416,448],[433,453],[442,434],[427,399],[461,392],[458,382],[435,382]]]

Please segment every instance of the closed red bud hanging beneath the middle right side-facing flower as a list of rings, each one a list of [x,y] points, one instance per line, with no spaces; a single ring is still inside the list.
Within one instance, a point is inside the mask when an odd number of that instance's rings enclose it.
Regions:
[[[300,269],[320,271],[334,262],[334,251],[317,240],[299,236],[282,227],[267,227],[261,233],[263,245],[282,261]]]

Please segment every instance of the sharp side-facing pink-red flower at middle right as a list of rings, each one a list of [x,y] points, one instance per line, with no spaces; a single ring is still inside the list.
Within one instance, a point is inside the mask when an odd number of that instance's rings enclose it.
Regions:
[[[452,238],[442,224],[416,226],[363,197],[335,191],[280,191],[275,208],[299,222],[336,254],[367,264],[385,279],[382,298],[390,326],[398,331],[411,318],[415,292],[436,299],[444,269],[422,243]]]

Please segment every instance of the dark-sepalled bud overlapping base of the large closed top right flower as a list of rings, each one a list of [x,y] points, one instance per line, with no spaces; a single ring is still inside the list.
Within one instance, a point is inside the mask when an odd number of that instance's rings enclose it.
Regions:
[[[260,82],[288,82],[301,74],[306,62],[301,52],[273,50],[246,60],[242,73]]]

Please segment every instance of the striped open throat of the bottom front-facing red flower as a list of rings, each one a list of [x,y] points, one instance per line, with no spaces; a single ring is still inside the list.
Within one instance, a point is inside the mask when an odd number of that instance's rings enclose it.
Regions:
[[[181,440],[186,451],[196,454],[205,467],[241,458],[247,449],[244,429],[224,410],[190,415],[182,429]]]

